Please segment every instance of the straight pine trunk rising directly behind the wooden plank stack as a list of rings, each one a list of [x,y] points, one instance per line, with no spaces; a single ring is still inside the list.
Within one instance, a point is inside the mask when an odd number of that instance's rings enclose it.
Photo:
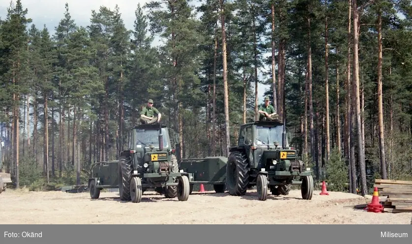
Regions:
[[[379,155],[381,159],[382,179],[387,179],[385,141],[383,127],[383,97],[382,97],[382,11],[378,10],[378,118],[379,118]]]

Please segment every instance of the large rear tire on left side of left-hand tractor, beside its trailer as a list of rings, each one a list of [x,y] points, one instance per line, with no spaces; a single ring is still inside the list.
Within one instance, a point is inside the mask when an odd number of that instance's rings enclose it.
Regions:
[[[132,177],[132,161],[130,157],[120,157],[118,167],[120,200],[130,201],[130,180]]]

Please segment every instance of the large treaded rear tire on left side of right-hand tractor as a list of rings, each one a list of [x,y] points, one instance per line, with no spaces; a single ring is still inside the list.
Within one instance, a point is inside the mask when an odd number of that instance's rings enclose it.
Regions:
[[[243,152],[231,152],[226,164],[226,187],[232,196],[242,196],[249,184],[249,164]]]

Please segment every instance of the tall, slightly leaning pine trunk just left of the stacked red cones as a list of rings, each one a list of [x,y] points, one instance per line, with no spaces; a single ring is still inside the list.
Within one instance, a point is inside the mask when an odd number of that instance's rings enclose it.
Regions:
[[[358,138],[358,159],[359,159],[359,170],[360,170],[360,182],[361,182],[361,193],[362,196],[366,195],[368,192],[366,185],[366,169],[365,169],[365,152],[363,150],[363,139],[362,139],[362,122],[361,122],[361,109],[360,109],[360,86],[359,86],[359,58],[358,58],[358,20],[359,14],[357,12],[357,0],[353,0],[353,77],[356,92],[356,127],[357,127],[357,138]]]

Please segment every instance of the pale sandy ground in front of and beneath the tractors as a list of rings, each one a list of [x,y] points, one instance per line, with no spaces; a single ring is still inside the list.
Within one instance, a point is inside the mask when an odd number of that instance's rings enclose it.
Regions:
[[[354,209],[369,203],[362,196],[314,191],[302,200],[299,190],[288,196],[257,199],[256,190],[245,196],[193,192],[188,201],[166,199],[145,192],[141,203],[123,202],[118,192],[29,192],[10,190],[0,194],[2,224],[410,224],[412,213],[368,213]]]

